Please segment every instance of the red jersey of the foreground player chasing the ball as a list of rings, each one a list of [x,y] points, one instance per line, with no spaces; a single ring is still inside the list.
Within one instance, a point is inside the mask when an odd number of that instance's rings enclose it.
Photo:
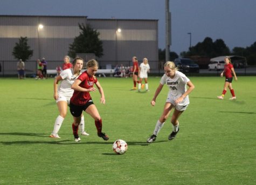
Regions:
[[[98,82],[97,78],[90,77],[87,71],[81,73],[77,79],[81,80],[79,86],[87,89],[93,87],[93,85]],[[70,102],[74,105],[85,105],[91,98],[92,97],[89,92],[74,91]]]

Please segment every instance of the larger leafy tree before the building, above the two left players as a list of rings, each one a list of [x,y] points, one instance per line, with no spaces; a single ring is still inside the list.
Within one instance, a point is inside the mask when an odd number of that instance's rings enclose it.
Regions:
[[[74,38],[70,45],[68,55],[75,57],[77,53],[94,53],[95,56],[103,56],[102,41],[99,39],[100,33],[90,25],[78,24],[81,32]]]

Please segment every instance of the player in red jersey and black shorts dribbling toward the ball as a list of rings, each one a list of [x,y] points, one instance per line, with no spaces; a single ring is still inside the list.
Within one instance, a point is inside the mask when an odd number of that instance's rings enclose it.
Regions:
[[[72,129],[75,142],[79,142],[81,140],[78,135],[78,125],[81,121],[81,113],[83,110],[87,114],[91,115],[95,120],[95,126],[98,131],[98,136],[102,137],[104,140],[109,139],[105,133],[101,132],[102,120],[98,109],[94,105],[91,95],[89,94],[89,92],[96,91],[96,88],[93,87],[93,85],[95,84],[101,94],[100,102],[105,104],[105,95],[103,92],[103,88],[101,87],[97,78],[94,76],[98,68],[99,64],[97,61],[89,60],[86,64],[86,71],[83,72],[71,86],[71,88],[73,88],[74,90],[74,93],[70,99],[70,112],[73,115],[74,119]]]

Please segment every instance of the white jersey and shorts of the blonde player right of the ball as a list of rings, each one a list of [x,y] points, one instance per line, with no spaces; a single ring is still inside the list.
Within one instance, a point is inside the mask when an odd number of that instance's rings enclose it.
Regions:
[[[162,85],[167,84],[169,87],[169,93],[167,97],[167,102],[175,105],[175,100],[181,97],[182,94],[186,92],[186,84],[190,81],[188,77],[186,77],[182,72],[175,71],[174,78],[170,78],[167,75],[163,75],[160,80]],[[179,110],[182,110],[182,107],[189,105],[189,96],[187,95],[182,102],[178,103]]]

